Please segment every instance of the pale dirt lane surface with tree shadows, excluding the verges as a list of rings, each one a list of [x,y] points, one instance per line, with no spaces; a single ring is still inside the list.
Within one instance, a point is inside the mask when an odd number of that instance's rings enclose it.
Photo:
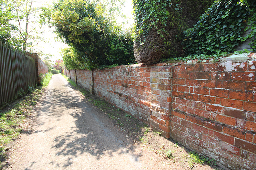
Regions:
[[[61,75],[52,76],[37,110],[33,132],[10,150],[8,169],[176,169],[128,141]]]

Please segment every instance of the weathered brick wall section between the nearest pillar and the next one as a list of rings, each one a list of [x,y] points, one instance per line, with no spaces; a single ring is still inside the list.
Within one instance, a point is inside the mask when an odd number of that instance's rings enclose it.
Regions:
[[[150,67],[134,64],[94,70],[94,92],[149,124]]]

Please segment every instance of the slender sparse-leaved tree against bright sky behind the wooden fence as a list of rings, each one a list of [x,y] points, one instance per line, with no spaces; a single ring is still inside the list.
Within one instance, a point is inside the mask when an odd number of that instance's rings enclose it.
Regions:
[[[42,40],[44,9],[34,0],[0,0],[0,39],[15,49],[32,52],[32,42]]]

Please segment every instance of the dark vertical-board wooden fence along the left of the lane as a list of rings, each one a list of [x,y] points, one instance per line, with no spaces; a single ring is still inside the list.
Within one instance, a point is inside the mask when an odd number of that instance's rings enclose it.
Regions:
[[[35,61],[0,42],[0,109],[36,86]]]

